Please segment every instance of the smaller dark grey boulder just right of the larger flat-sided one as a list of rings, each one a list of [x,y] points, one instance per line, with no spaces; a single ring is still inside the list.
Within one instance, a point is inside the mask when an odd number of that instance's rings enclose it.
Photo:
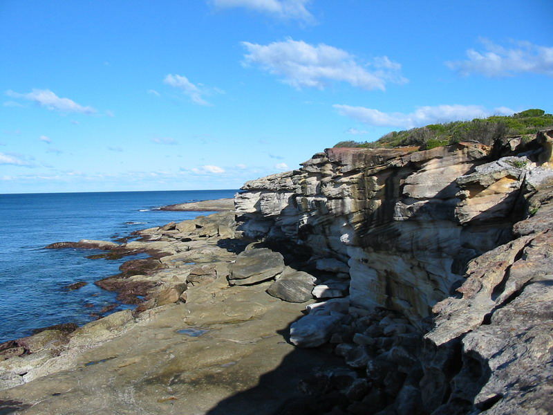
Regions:
[[[273,297],[288,302],[306,302],[312,299],[311,291],[316,278],[303,271],[287,268],[267,289]]]

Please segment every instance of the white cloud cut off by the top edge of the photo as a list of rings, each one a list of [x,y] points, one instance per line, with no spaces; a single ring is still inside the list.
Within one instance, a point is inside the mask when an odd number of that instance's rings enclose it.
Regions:
[[[212,0],[212,3],[218,9],[241,7],[283,19],[315,21],[306,8],[310,0]]]

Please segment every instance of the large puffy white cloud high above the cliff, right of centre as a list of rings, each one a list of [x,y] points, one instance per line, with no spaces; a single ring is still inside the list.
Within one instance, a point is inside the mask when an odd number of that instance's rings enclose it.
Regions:
[[[282,82],[295,88],[324,89],[332,81],[384,91],[386,82],[405,83],[401,65],[388,57],[375,57],[371,62],[357,62],[354,55],[334,46],[316,46],[287,39],[268,45],[242,42],[247,49],[243,64],[259,65],[264,71],[282,77]]]

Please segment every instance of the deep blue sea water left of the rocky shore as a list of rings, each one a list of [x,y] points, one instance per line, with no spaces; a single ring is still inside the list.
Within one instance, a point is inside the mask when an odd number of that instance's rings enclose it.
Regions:
[[[156,208],[187,201],[221,199],[236,190],[0,194],[0,342],[30,335],[53,324],[84,324],[115,293],[93,283],[118,273],[119,260],[87,259],[100,251],[46,250],[59,241],[110,241],[134,230],[209,212],[169,212]],[[88,282],[66,291],[64,286]],[[129,308],[119,304],[115,311]]]

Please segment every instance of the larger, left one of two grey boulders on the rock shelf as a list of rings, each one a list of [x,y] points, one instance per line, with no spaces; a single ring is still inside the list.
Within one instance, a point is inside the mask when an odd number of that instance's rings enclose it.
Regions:
[[[250,285],[268,281],[284,270],[284,259],[279,252],[268,248],[242,252],[229,270],[230,285]]]

